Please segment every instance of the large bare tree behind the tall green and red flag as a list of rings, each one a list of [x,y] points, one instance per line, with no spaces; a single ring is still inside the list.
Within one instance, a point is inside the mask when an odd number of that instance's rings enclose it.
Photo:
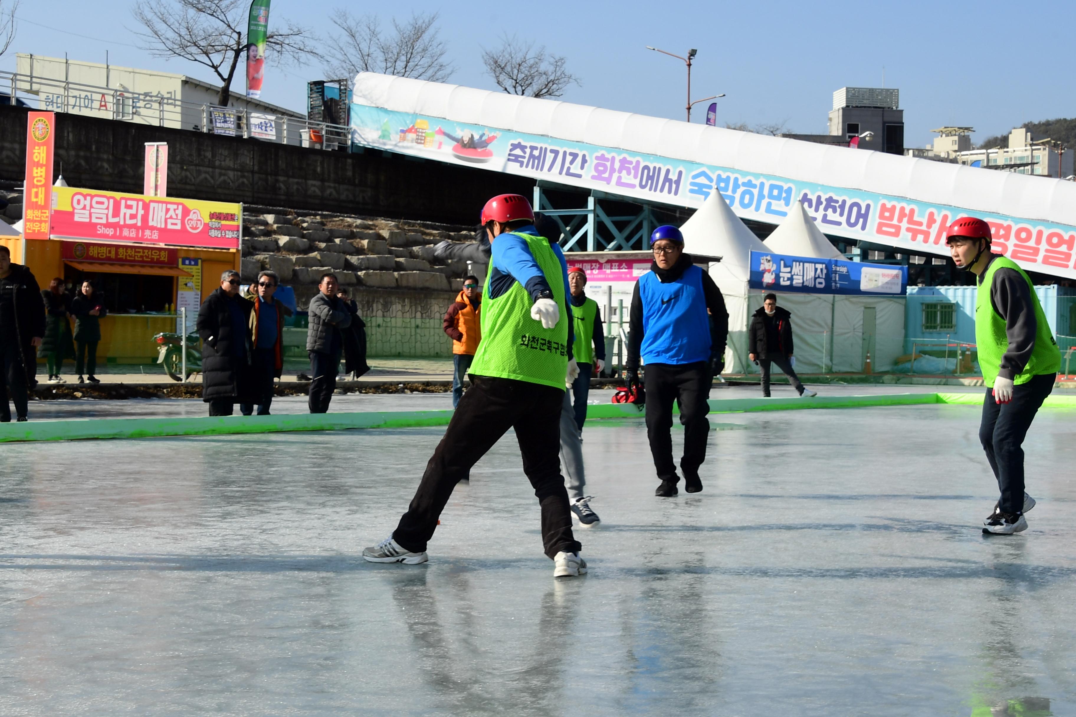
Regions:
[[[154,57],[189,60],[221,78],[217,104],[231,100],[231,81],[246,52],[247,0],[138,0],[131,11],[143,27],[134,34]],[[275,31],[266,39],[266,54],[278,64],[302,63],[316,57],[310,30],[273,18]]]

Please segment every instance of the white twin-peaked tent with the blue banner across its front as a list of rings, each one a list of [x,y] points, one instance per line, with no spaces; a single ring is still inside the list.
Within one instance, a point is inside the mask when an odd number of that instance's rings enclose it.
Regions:
[[[818,236],[811,236],[811,229]],[[823,254],[824,246],[819,246],[819,250],[807,250],[807,247],[818,244],[819,238],[825,245],[833,246],[802,209],[790,212],[774,232],[781,231],[783,234],[783,239],[782,235],[777,236],[781,250],[770,246],[770,239],[763,243],[733,214],[718,192],[710,195],[680,230],[683,232],[684,249],[689,253],[722,257],[720,263],[710,268],[710,276],[724,295],[728,312],[725,371],[758,373],[758,367],[748,358],[747,329],[751,315],[762,306],[762,297],[767,291],[748,288],[750,253],[788,253],[820,258],[838,258],[840,255],[835,248],[832,255]],[[785,246],[795,247],[795,250]],[[792,312],[798,372],[859,372],[868,352],[874,369],[884,370],[903,353],[904,297],[777,293],[778,303]]]

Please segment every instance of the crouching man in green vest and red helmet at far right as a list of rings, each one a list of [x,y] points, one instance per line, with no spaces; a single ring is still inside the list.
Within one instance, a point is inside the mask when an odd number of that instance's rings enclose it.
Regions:
[[[1024,492],[1020,446],[1053,390],[1061,352],[1028,274],[990,252],[990,225],[961,217],[949,226],[946,244],[957,267],[978,277],[975,343],[987,385],[979,441],[1001,489],[982,532],[1011,535],[1028,529],[1023,514],[1035,506]]]

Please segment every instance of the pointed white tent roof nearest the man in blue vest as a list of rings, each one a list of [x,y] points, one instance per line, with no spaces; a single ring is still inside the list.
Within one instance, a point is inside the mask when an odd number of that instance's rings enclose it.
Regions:
[[[733,214],[718,191],[710,193],[709,199],[680,227],[680,231],[686,252],[721,257],[719,266],[741,282],[746,282],[750,274],[752,250],[774,250]]]

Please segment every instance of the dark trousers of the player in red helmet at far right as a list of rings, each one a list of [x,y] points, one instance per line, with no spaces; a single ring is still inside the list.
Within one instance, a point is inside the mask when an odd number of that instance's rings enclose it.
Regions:
[[[1001,489],[1002,513],[1023,511],[1023,439],[1038,407],[1053,390],[1056,373],[1034,376],[1027,384],[1013,387],[1013,400],[994,401],[993,389],[987,389],[982,402],[982,422],[979,424],[979,442],[987,451],[987,460],[997,478]]]

